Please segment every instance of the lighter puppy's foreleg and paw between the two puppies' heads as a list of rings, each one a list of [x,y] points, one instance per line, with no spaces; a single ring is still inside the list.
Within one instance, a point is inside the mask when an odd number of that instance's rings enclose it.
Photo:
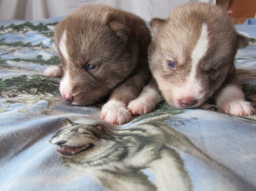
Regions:
[[[146,86],[144,86],[139,97],[131,100],[127,108],[134,116],[143,115],[152,111],[162,100],[163,98],[157,88],[156,81],[151,77],[151,80]]]

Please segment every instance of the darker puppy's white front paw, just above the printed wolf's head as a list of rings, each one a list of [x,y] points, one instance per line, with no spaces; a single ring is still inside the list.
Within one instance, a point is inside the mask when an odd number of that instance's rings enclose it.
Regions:
[[[100,118],[120,125],[130,121],[131,113],[126,109],[123,102],[110,100],[102,106]]]

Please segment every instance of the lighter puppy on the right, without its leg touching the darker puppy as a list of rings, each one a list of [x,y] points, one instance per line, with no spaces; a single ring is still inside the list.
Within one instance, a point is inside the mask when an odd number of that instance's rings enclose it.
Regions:
[[[149,67],[164,99],[177,108],[214,97],[225,113],[251,115],[235,69],[238,48],[248,45],[222,8],[206,3],[176,8],[150,22]]]

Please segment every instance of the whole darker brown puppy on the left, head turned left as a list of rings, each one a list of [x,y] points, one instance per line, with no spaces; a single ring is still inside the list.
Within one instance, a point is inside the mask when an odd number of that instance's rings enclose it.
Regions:
[[[101,118],[123,124],[131,119],[128,104],[151,75],[150,42],[150,31],[138,16],[110,6],[86,5],[57,25],[55,46],[62,64],[47,68],[45,75],[62,76],[60,93],[74,105],[92,105],[109,97]]]

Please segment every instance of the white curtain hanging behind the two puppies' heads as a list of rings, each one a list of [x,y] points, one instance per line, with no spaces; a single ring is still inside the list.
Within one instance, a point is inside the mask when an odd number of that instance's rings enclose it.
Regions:
[[[139,15],[149,21],[166,18],[179,5],[215,0],[0,0],[0,20],[42,20],[65,16],[85,4],[104,3]]]

